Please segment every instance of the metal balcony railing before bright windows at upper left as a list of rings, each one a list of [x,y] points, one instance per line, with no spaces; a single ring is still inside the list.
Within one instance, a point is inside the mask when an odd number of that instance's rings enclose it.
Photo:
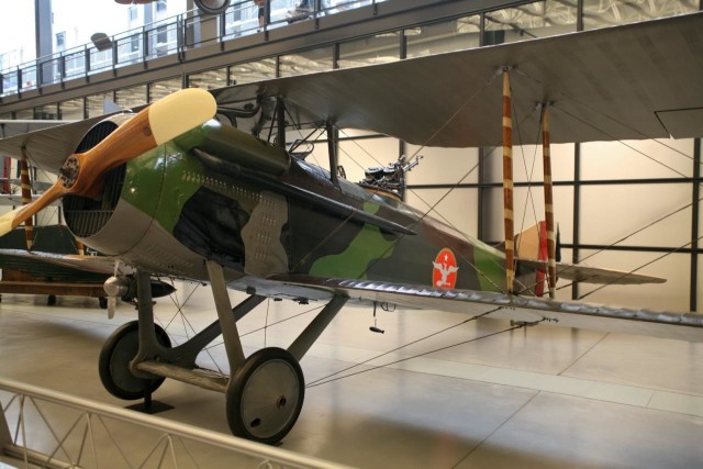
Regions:
[[[70,79],[140,64],[157,57],[179,54],[213,42],[272,30],[305,19],[315,19],[380,3],[386,0],[310,0],[310,7],[298,7],[301,0],[270,0],[264,7],[264,23],[259,24],[259,8],[252,1],[233,2],[222,14],[208,15],[192,10],[145,26],[109,37],[109,47],[99,51],[85,44],[49,56],[0,70],[0,97],[24,90],[62,83]],[[303,3],[304,4],[304,3]],[[201,31],[214,31],[204,36]]]

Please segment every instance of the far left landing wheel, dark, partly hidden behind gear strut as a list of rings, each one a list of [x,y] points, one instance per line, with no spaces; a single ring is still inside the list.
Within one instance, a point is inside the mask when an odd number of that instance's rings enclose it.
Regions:
[[[158,324],[154,324],[156,339],[165,347],[170,347],[171,342],[166,331]],[[146,386],[156,391],[165,378],[142,379],[132,375],[130,361],[134,359],[140,348],[138,321],[123,324],[113,332],[100,350],[98,370],[100,381],[108,392],[115,398],[125,401],[134,401],[144,398]]]

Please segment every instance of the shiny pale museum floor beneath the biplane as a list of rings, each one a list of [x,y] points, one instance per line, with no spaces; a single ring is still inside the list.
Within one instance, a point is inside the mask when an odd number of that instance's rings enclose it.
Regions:
[[[189,290],[181,288],[179,297]],[[45,302],[3,295],[0,377],[125,405],[103,390],[97,359],[108,335],[136,319],[134,309],[121,304],[109,321],[93,299]],[[155,308],[176,342],[185,324],[199,330],[214,319],[204,287],[182,306],[183,316],[168,298]],[[239,331],[311,309],[264,302]],[[246,353],[265,344],[288,346],[312,316],[246,335]],[[303,358],[306,382],[464,320],[379,312],[378,327],[386,333],[373,334],[371,312],[345,309]],[[361,468],[703,467],[703,345],[539,325],[425,355],[506,327],[469,322],[350,372],[416,358],[309,387],[281,447]],[[222,346],[210,353],[222,361]],[[214,367],[209,360],[202,365]],[[221,394],[167,380],[155,399],[175,406],[161,418],[228,433]]]

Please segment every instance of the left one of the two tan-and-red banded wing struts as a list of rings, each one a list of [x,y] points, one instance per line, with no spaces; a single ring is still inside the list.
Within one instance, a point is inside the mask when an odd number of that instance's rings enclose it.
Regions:
[[[505,290],[513,292],[515,280],[513,242],[513,119],[510,67],[503,68],[503,219],[505,222]]]

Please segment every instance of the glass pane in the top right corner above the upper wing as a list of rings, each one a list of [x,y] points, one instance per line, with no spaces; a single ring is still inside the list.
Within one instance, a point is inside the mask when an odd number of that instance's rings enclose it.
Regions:
[[[595,30],[616,24],[636,23],[657,18],[693,13],[696,1],[670,0],[583,0],[583,29]]]

